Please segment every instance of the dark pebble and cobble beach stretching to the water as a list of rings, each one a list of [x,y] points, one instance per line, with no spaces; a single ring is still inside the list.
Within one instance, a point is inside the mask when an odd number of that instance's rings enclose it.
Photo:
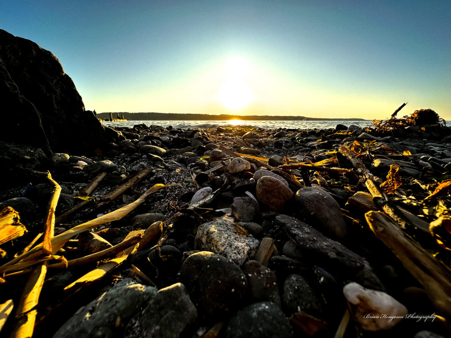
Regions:
[[[351,313],[345,337],[444,337],[440,320],[409,318],[442,311],[368,227],[365,212],[384,209],[366,192],[364,178],[382,183],[397,168],[399,182],[387,184],[401,184],[391,202],[414,214],[416,227],[405,233],[449,266],[449,251],[428,231],[437,215],[415,216],[423,205],[413,201],[449,174],[450,129],[137,125],[118,128],[120,140],[97,149],[97,157],[53,154],[41,170],[50,170],[61,186],[55,235],[138,201],[155,184],[167,187],[122,218],[71,238],[56,253],[70,263],[130,234],[143,238],[113,273],[92,283],[75,282],[109,258],[63,270],[52,269],[58,263],[50,261],[35,332],[55,338],[333,337]],[[346,150],[360,156],[369,174]],[[295,168],[285,169],[290,165]],[[133,187],[108,195],[146,170]],[[102,173],[98,187],[86,194]],[[22,182],[29,184],[0,192],[0,209],[14,208],[28,230],[1,247],[2,265],[42,232],[52,187],[45,175],[27,174]],[[421,185],[429,187],[418,192]],[[3,272],[0,303],[18,301],[28,272]],[[365,317],[387,313],[399,318]]]

